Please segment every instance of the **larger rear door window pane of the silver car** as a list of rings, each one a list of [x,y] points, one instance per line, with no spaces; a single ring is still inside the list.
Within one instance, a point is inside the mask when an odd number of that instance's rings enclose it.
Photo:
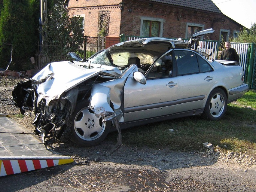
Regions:
[[[177,75],[199,72],[196,53],[187,50],[175,50],[174,53],[178,68]]]

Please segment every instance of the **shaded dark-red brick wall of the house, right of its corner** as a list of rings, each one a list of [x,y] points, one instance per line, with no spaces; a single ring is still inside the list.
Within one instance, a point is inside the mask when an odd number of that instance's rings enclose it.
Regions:
[[[146,0],[123,0],[123,3],[120,34],[139,36],[141,17],[163,19],[163,37],[172,38],[185,38],[187,23],[204,25],[204,29],[213,28],[215,32],[209,35],[211,40],[219,40],[220,29],[230,30],[230,36],[233,36],[234,30],[240,31],[243,28],[242,25],[223,14],[195,11]],[[128,9],[132,9],[132,12]]]

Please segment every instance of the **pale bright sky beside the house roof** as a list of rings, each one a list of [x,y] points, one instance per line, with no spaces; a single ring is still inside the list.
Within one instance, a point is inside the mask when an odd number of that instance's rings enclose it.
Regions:
[[[251,28],[256,23],[256,0],[212,0],[221,12],[237,23]]]

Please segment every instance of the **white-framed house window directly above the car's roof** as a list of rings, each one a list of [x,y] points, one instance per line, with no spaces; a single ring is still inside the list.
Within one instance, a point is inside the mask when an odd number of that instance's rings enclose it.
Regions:
[[[162,37],[163,19],[142,17],[140,26],[140,36],[144,37]]]

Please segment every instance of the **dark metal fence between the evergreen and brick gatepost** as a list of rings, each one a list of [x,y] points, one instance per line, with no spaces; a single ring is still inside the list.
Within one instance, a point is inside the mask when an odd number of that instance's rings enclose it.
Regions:
[[[38,45],[35,64],[38,66],[38,69],[41,69],[50,62],[72,60],[67,56],[70,51],[78,54],[83,59],[87,59],[102,49],[105,49],[105,37],[84,36],[82,45],[67,44],[60,46],[51,43],[41,45],[41,47]]]

